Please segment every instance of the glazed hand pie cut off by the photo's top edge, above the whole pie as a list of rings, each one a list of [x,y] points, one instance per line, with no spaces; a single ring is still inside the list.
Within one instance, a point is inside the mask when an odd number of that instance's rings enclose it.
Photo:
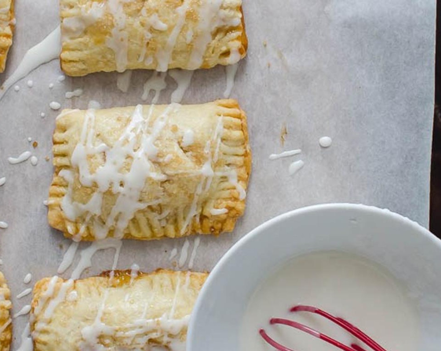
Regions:
[[[245,57],[242,0],[60,0],[67,75],[194,70]]]

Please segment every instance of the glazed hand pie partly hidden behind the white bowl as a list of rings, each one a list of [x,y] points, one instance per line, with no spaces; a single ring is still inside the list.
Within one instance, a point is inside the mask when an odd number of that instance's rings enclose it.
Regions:
[[[80,280],[45,278],[31,302],[34,351],[183,350],[207,273],[107,272]]]

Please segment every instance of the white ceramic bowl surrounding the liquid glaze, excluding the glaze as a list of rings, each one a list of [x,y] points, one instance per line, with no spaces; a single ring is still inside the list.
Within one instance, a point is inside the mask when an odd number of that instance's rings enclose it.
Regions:
[[[441,350],[441,241],[388,210],[325,204],[269,220],[222,257],[194,307],[187,351],[238,351],[243,313],[259,283],[284,261],[324,250],[373,260],[404,283],[421,317],[419,350]]]

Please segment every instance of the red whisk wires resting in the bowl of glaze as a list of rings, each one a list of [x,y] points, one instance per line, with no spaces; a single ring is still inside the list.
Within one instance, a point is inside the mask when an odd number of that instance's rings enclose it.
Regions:
[[[355,327],[354,325],[352,325],[351,323],[349,323],[348,321],[345,321],[343,318],[340,317],[335,317],[332,314],[329,314],[321,309],[318,309],[317,307],[313,307],[313,306],[303,306],[303,305],[299,305],[299,306],[294,306],[292,307],[292,309],[290,309],[290,312],[311,312],[311,313],[316,313],[322,317],[325,317],[326,319],[328,319],[329,321],[332,321],[333,323],[335,323],[336,325],[339,325],[340,327],[342,327],[343,329],[345,329],[346,331],[348,331],[349,333],[351,333],[353,336],[355,336],[356,338],[358,338],[359,340],[363,341],[363,343],[365,343],[367,346],[369,346],[372,350],[374,351],[386,351],[383,347],[381,347],[380,345],[378,345],[378,343],[376,343],[374,340],[372,340],[369,336],[367,336],[364,332],[362,332],[359,328]],[[284,318],[271,318],[269,320],[269,324],[283,324],[283,325],[288,325],[289,327],[292,328],[296,328],[299,329],[303,332],[306,332],[312,336],[315,336],[318,339],[321,339],[327,343],[330,343],[338,348],[340,348],[341,350],[344,351],[366,351],[363,347],[352,343],[351,346],[347,346],[343,343],[340,343],[339,341],[325,335],[322,334],[321,332],[318,332],[315,329],[312,329],[304,324],[295,322],[295,321],[290,321],[289,319],[284,319]],[[272,347],[274,347],[276,350],[279,351],[294,351],[288,347],[285,347],[283,345],[281,345],[280,343],[278,343],[277,341],[275,341],[274,339],[272,339],[271,337],[268,336],[268,334],[265,332],[264,329],[260,329],[259,330],[259,334],[262,336],[262,338],[269,343]]]

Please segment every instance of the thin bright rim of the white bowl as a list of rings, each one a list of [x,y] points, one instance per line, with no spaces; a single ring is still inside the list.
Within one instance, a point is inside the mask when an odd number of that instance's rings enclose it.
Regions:
[[[186,342],[186,349],[187,351],[194,351],[193,347],[193,330],[195,328],[196,324],[196,316],[198,315],[199,310],[201,309],[202,299],[203,296],[206,294],[206,291],[208,290],[208,287],[210,283],[216,279],[217,272],[221,271],[221,269],[224,266],[224,263],[230,259],[232,255],[236,253],[236,251],[240,250],[240,248],[243,245],[246,245],[248,241],[253,239],[254,237],[261,235],[265,230],[272,226],[274,223],[280,222],[284,219],[287,219],[292,216],[301,215],[305,212],[311,212],[311,211],[321,211],[321,210],[327,210],[327,209],[350,209],[350,210],[361,210],[365,211],[366,213],[376,214],[376,215],[383,215],[390,217],[391,219],[394,219],[396,221],[400,221],[402,223],[405,223],[409,227],[413,228],[415,231],[417,231],[420,235],[431,241],[434,245],[438,247],[438,249],[441,250],[441,239],[437,238],[434,234],[432,234],[428,229],[420,225],[419,223],[409,219],[408,217],[405,217],[403,215],[400,215],[396,212],[392,212],[387,208],[379,208],[376,206],[370,206],[370,205],[364,205],[364,204],[352,204],[352,203],[329,203],[329,204],[316,204],[316,205],[310,205],[305,206],[302,208],[297,208],[291,211],[287,211],[285,213],[282,213],[280,215],[277,215],[267,221],[265,221],[262,224],[259,224],[254,229],[250,230],[247,234],[245,234],[242,238],[240,238],[237,242],[232,245],[231,248],[228,249],[228,251],[221,257],[221,259],[216,263],[214,268],[209,273],[208,278],[206,279],[204,285],[202,286],[201,291],[198,294],[198,298],[194,304],[193,312],[191,313],[190,322],[187,329],[187,342]]]

